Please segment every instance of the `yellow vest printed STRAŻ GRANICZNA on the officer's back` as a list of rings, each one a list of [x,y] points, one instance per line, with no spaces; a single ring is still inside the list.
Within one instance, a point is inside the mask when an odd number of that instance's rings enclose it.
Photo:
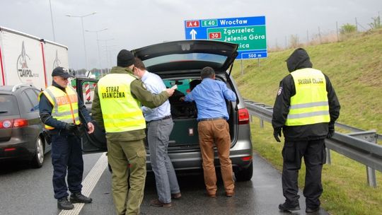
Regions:
[[[130,84],[136,79],[130,74],[108,74],[98,81],[98,97],[106,132],[146,128],[141,105],[130,92]]]

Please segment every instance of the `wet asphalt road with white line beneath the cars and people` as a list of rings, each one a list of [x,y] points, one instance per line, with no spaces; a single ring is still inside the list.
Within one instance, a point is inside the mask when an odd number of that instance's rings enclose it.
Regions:
[[[111,195],[111,173],[106,168],[106,158],[101,153],[84,155],[83,192],[90,193],[91,204],[75,204],[71,211],[57,209],[53,198],[52,165],[50,153],[39,169],[30,169],[23,163],[0,163],[0,214],[72,214],[112,215],[115,214]],[[182,173],[178,175],[182,198],[173,200],[171,208],[150,207],[155,199],[154,175],[146,179],[142,214],[292,214],[279,211],[284,202],[281,188],[281,174],[272,165],[254,154],[253,178],[247,182],[236,182],[234,197],[224,195],[221,180],[218,182],[216,199],[205,195],[202,175]],[[325,191],[324,191],[325,192]],[[300,193],[301,211],[305,213],[305,199]],[[323,209],[316,214],[328,214]]]

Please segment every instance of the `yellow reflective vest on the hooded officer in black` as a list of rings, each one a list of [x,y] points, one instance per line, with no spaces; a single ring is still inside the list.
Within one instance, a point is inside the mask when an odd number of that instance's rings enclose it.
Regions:
[[[325,76],[317,69],[298,69],[291,72],[296,95],[291,97],[287,117],[288,126],[330,122],[328,92]]]

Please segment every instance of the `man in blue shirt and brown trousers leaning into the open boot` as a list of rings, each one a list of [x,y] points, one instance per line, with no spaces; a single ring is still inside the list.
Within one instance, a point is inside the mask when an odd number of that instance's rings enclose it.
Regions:
[[[223,81],[215,80],[215,71],[207,66],[200,72],[202,83],[199,83],[184,100],[195,101],[197,105],[197,131],[199,132],[200,152],[203,159],[204,183],[209,197],[216,197],[216,173],[214,166],[214,146],[218,151],[226,196],[232,197],[234,182],[232,163],[229,158],[231,137],[226,100],[235,101],[236,94],[227,88]]]

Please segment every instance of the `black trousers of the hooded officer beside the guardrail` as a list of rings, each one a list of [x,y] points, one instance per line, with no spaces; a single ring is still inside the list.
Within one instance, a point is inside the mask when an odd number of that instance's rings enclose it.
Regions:
[[[299,170],[301,158],[306,165],[305,187],[303,196],[306,198],[306,207],[316,208],[320,206],[320,196],[323,193],[321,184],[321,172],[326,160],[325,141],[285,141],[282,149],[282,192],[287,204],[299,205]]]

